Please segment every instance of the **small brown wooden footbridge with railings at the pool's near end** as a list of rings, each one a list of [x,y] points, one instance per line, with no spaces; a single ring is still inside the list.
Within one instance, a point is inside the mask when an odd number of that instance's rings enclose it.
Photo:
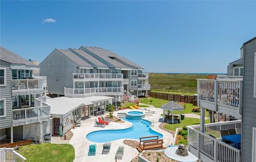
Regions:
[[[158,139],[158,136],[140,137],[140,145],[137,147],[139,152],[158,149],[163,149],[163,139]]]

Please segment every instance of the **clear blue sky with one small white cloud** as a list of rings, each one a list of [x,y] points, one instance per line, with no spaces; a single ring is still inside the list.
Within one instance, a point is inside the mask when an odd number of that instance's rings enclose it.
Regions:
[[[226,73],[255,36],[255,1],[1,1],[1,46],[39,61],[86,45],[148,72]]]

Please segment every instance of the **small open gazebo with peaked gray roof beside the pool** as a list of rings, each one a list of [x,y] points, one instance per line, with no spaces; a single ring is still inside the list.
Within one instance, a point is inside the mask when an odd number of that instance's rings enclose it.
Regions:
[[[172,111],[172,124],[174,124],[174,115],[173,115],[174,111],[175,110],[180,111],[180,117],[179,118],[181,120],[181,110],[183,110],[184,108],[182,106],[180,106],[180,104],[178,104],[177,102],[171,101],[171,102],[168,102],[168,103],[164,104],[161,107],[161,109],[163,109],[163,121],[164,121],[164,118],[165,118],[165,110]]]

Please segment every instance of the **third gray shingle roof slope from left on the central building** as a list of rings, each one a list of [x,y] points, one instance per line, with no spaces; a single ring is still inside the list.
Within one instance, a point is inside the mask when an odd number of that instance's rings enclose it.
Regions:
[[[110,57],[113,56],[113,54],[110,54],[111,51],[105,50],[103,48],[97,48],[97,47],[85,47],[85,48],[87,50],[93,52],[94,54],[98,55],[103,60],[109,62],[110,64],[113,64],[113,66],[115,66],[116,68],[130,68],[130,67],[125,66],[123,63],[118,62],[115,59],[111,59]]]

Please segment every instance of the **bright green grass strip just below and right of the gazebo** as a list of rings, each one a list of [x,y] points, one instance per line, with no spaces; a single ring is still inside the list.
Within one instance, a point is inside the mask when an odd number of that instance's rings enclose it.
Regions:
[[[210,123],[210,119],[205,120],[205,124]],[[196,118],[186,118],[184,120],[181,120],[181,123],[177,124],[166,124],[164,125],[164,128],[169,129],[171,131],[176,131],[176,128],[180,128],[183,126],[189,126],[189,125],[199,125],[200,119]]]

